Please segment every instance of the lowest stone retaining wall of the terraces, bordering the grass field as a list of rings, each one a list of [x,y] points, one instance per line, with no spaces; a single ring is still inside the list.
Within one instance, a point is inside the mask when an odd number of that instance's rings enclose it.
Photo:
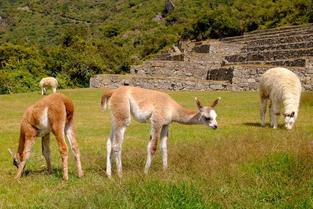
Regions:
[[[177,78],[157,78],[121,75],[95,75],[90,78],[91,88],[118,88],[120,86],[136,86],[155,90],[172,91],[256,91],[261,75],[268,67],[253,66],[232,66],[209,71],[211,80],[229,79],[230,82],[214,82],[203,80],[186,80]],[[313,90],[313,69],[312,68],[288,68],[300,79],[302,90]],[[222,72],[222,73],[221,73]],[[222,77],[222,78],[221,78]],[[231,84],[230,84],[231,83]]]

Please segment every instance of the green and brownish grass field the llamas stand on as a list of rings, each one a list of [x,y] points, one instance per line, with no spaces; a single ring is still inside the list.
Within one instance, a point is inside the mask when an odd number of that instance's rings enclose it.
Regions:
[[[295,126],[260,126],[257,92],[166,92],[182,106],[196,109],[194,97],[215,107],[218,128],[169,125],[169,169],[162,171],[159,148],[143,174],[149,124],[132,120],[122,145],[123,175],[113,162],[105,174],[108,110],[101,111],[104,89],[58,90],[75,105],[76,140],[84,177],[77,177],[69,153],[67,181],[51,134],[53,173],[46,171],[40,138],[22,177],[7,148],[17,150],[23,112],[41,92],[0,95],[0,208],[310,208],[313,207],[313,92],[302,92]],[[51,93],[51,90],[48,90]]]

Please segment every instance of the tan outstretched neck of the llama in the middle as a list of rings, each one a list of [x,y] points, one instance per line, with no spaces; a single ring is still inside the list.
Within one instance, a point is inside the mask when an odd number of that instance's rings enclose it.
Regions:
[[[176,107],[172,121],[181,123],[181,124],[200,124],[202,123],[200,120],[199,110],[189,110],[182,106]]]

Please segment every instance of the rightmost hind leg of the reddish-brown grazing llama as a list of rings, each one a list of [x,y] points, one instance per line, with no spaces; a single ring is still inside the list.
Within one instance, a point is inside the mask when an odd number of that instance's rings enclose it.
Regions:
[[[65,134],[66,134],[67,140],[69,142],[71,151],[72,151],[72,153],[75,157],[75,160],[76,160],[76,167],[78,170],[78,176],[82,177],[83,172],[82,172],[81,164],[80,164],[80,152],[79,152],[79,147],[78,147],[78,144],[77,144],[76,138],[75,138],[74,124],[72,122],[69,122],[67,124],[67,126],[65,127]]]

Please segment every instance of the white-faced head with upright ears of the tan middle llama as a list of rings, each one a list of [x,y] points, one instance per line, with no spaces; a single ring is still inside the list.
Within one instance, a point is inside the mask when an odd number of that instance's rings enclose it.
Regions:
[[[215,101],[209,106],[209,107],[203,107],[201,103],[197,100],[197,98],[194,98],[196,105],[198,106],[198,109],[200,111],[200,119],[201,122],[210,127],[211,129],[215,130],[217,128],[217,122],[216,122],[216,113],[214,111],[215,105],[220,100],[220,97],[217,97]]]

